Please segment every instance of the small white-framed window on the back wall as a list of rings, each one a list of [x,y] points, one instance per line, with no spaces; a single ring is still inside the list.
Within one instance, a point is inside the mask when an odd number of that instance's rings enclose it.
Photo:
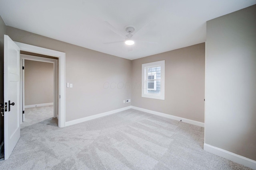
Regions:
[[[142,64],[142,97],[164,100],[164,60]]]

